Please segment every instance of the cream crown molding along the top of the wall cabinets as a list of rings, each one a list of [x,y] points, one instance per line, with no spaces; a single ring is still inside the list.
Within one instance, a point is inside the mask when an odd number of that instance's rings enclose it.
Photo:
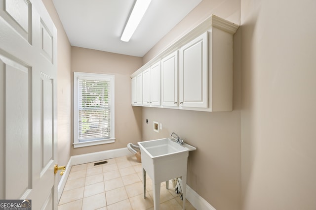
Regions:
[[[131,78],[135,77],[140,72],[149,68],[153,63],[161,60],[163,57],[165,57],[168,54],[172,53],[173,51],[179,49],[184,44],[193,40],[201,33],[205,32],[207,30],[211,30],[212,27],[215,27],[215,28],[218,28],[220,30],[226,31],[228,33],[234,34],[237,31],[239,25],[232,23],[228,20],[225,20],[223,18],[220,18],[216,15],[211,15],[210,17],[208,17],[207,19],[202,21],[199,25],[197,25],[197,27],[195,27],[193,30],[189,31],[188,33],[186,33],[185,35],[180,37],[178,40],[176,40],[175,42],[173,42],[169,46],[167,46],[164,50],[162,50],[152,60],[145,63],[142,67],[140,67],[137,71],[135,71],[131,75]]]

